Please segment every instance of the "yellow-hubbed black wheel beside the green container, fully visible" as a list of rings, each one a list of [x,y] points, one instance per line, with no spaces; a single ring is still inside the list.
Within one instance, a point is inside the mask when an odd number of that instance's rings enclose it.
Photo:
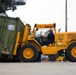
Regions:
[[[33,52],[32,57],[31,57],[31,51],[30,51],[30,55],[27,55],[25,53],[26,56],[24,56],[23,53],[27,52],[29,49]],[[19,56],[20,56],[20,60],[23,62],[36,62],[39,56],[39,52],[34,45],[27,44],[20,49]]]

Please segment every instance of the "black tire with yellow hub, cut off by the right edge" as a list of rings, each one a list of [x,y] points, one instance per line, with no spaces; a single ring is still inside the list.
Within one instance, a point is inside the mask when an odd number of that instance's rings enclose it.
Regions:
[[[65,55],[69,61],[76,62],[76,42],[73,42],[68,46]]]

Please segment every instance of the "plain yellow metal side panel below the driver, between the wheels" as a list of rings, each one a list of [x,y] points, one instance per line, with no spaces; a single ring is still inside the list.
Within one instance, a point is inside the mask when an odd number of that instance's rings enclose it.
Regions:
[[[57,54],[57,47],[41,47],[43,54]]]

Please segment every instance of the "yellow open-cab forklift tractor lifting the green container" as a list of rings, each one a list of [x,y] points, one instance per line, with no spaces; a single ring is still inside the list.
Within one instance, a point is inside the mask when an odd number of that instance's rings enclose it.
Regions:
[[[35,40],[36,31],[40,28],[53,28],[55,40],[53,44],[41,46]],[[71,62],[76,62],[76,32],[56,32],[54,24],[35,24],[32,35],[30,34],[30,26],[26,25],[22,44],[17,53],[20,34],[17,36],[16,45],[13,54],[19,54],[20,60],[23,62],[40,61],[41,54],[48,55],[50,61],[56,61],[59,54],[65,50],[66,58]]]

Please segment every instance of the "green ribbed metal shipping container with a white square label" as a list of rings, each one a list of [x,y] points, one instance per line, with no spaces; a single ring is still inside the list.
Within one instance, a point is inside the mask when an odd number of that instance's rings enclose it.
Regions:
[[[23,35],[24,27],[19,18],[0,16],[0,60],[14,58],[13,50],[15,49],[17,37],[19,34]],[[20,38],[19,43],[21,41]]]

